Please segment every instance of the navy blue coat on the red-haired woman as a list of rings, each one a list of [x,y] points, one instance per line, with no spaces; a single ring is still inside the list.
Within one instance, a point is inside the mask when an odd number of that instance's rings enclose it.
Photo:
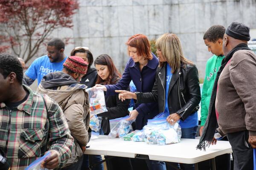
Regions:
[[[151,92],[159,64],[158,58],[153,53],[152,55],[153,59],[148,61],[148,64],[143,67],[141,72],[140,63],[134,63],[132,58],[130,58],[125,66],[121,80],[117,84],[106,85],[106,95],[116,95],[115,90],[127,89],[131,80],[134,82],[137,92]],[[135,121],[137,130],[141,130],[147,124],[148,119],[153,118],[159,113],[157,102],[136,104],[135,109],[139,112]]]

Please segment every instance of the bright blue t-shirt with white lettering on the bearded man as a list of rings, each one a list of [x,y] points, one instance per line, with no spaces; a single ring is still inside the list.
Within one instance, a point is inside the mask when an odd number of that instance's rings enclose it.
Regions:
[[[57,63],[51,63],[47,55],[35,59],[33,63],[26,70],[25,74],[32,80],[38,79],[38,85],[40,84],[44,75],[50,72],[59,72],[63,69],[63,63],[66,61],[67,56],[63,61]]]

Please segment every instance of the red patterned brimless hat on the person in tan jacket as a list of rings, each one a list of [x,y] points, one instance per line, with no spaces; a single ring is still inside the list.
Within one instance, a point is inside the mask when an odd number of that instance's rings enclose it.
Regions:
[[[85,75],[87,72],[88,63],[78,56],[70,56],[67,58],[63,66],[73,72]]]

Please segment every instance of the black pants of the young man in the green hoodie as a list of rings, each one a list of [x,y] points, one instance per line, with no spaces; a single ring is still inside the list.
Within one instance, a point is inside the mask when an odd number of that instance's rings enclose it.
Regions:
[[[221,141],[228,141],[227,137],[221,139]],[[218,142],[217,142],[218,144]],[[216,170],[230,170],[230,154],[224,154],[215,157]],[[198,162],[199,170],[210,170],[211,162],[210,160]]]

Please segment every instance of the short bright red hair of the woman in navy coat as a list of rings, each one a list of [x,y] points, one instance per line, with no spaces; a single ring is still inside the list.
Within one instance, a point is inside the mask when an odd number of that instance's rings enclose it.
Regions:
[[[151,60],[153,58],[150,52],[149,40],[145,35],[135,34],[131,36],[125,44],[137,48],[137,55],[143,56],[145,59],[148,60]],[[128,55],[130,55],[129,51]]]

